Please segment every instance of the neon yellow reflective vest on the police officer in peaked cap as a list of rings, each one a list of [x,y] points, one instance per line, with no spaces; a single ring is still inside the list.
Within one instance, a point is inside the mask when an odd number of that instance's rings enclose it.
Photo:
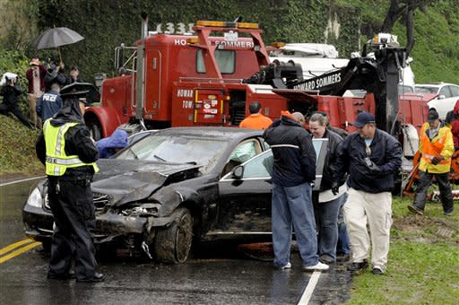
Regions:
[[[70,127],[79,123],[66,123],[62,126],[52,126],[51,118],[48,118],[43,125],[43,135],[47,144],[46,168],[49,176],[62,176],[68,168],[81,166],[92,166],[94,172],[99,168],[95,162],[85,163],[77,155],[67,156],[65,154],[65,133]]]

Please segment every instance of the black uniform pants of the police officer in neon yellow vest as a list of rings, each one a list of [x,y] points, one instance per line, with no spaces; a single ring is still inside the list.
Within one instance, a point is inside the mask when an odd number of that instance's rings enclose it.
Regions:
[[[75,260],[77,279],[94,277],[97,263],[91,230],[95,226],[90,180],[48,178],[48,198],[56,228],[48,274],[68,274]]]

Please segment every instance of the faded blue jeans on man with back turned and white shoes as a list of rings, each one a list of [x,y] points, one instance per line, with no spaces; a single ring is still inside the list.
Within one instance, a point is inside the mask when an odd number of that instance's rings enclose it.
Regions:
[[[296,187],[281,187],[273,184],[274,266],[285,266],[290,262],[292,225],[303,265],[317,264],[316,222],[311,194],[312,188],[308,183]]]

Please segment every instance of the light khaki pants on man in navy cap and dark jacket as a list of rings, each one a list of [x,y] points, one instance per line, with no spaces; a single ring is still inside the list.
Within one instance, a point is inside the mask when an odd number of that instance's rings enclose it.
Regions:
[[[343,211],[351,240],[352,262],[368,259],[371,236],[371,265],[385,271],[392,225],[391,193],[372,194],[350,188],[348,195]]]

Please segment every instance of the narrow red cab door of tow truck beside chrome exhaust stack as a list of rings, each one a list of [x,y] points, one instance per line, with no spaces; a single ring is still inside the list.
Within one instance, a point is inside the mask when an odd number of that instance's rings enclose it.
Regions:
[[[146,54],[145,63],[145,103],[146,119],[163,120],[169,111],[169,105],[162,105],[160,100],[161,88],[161,54],[157,49],[150,49]]]

